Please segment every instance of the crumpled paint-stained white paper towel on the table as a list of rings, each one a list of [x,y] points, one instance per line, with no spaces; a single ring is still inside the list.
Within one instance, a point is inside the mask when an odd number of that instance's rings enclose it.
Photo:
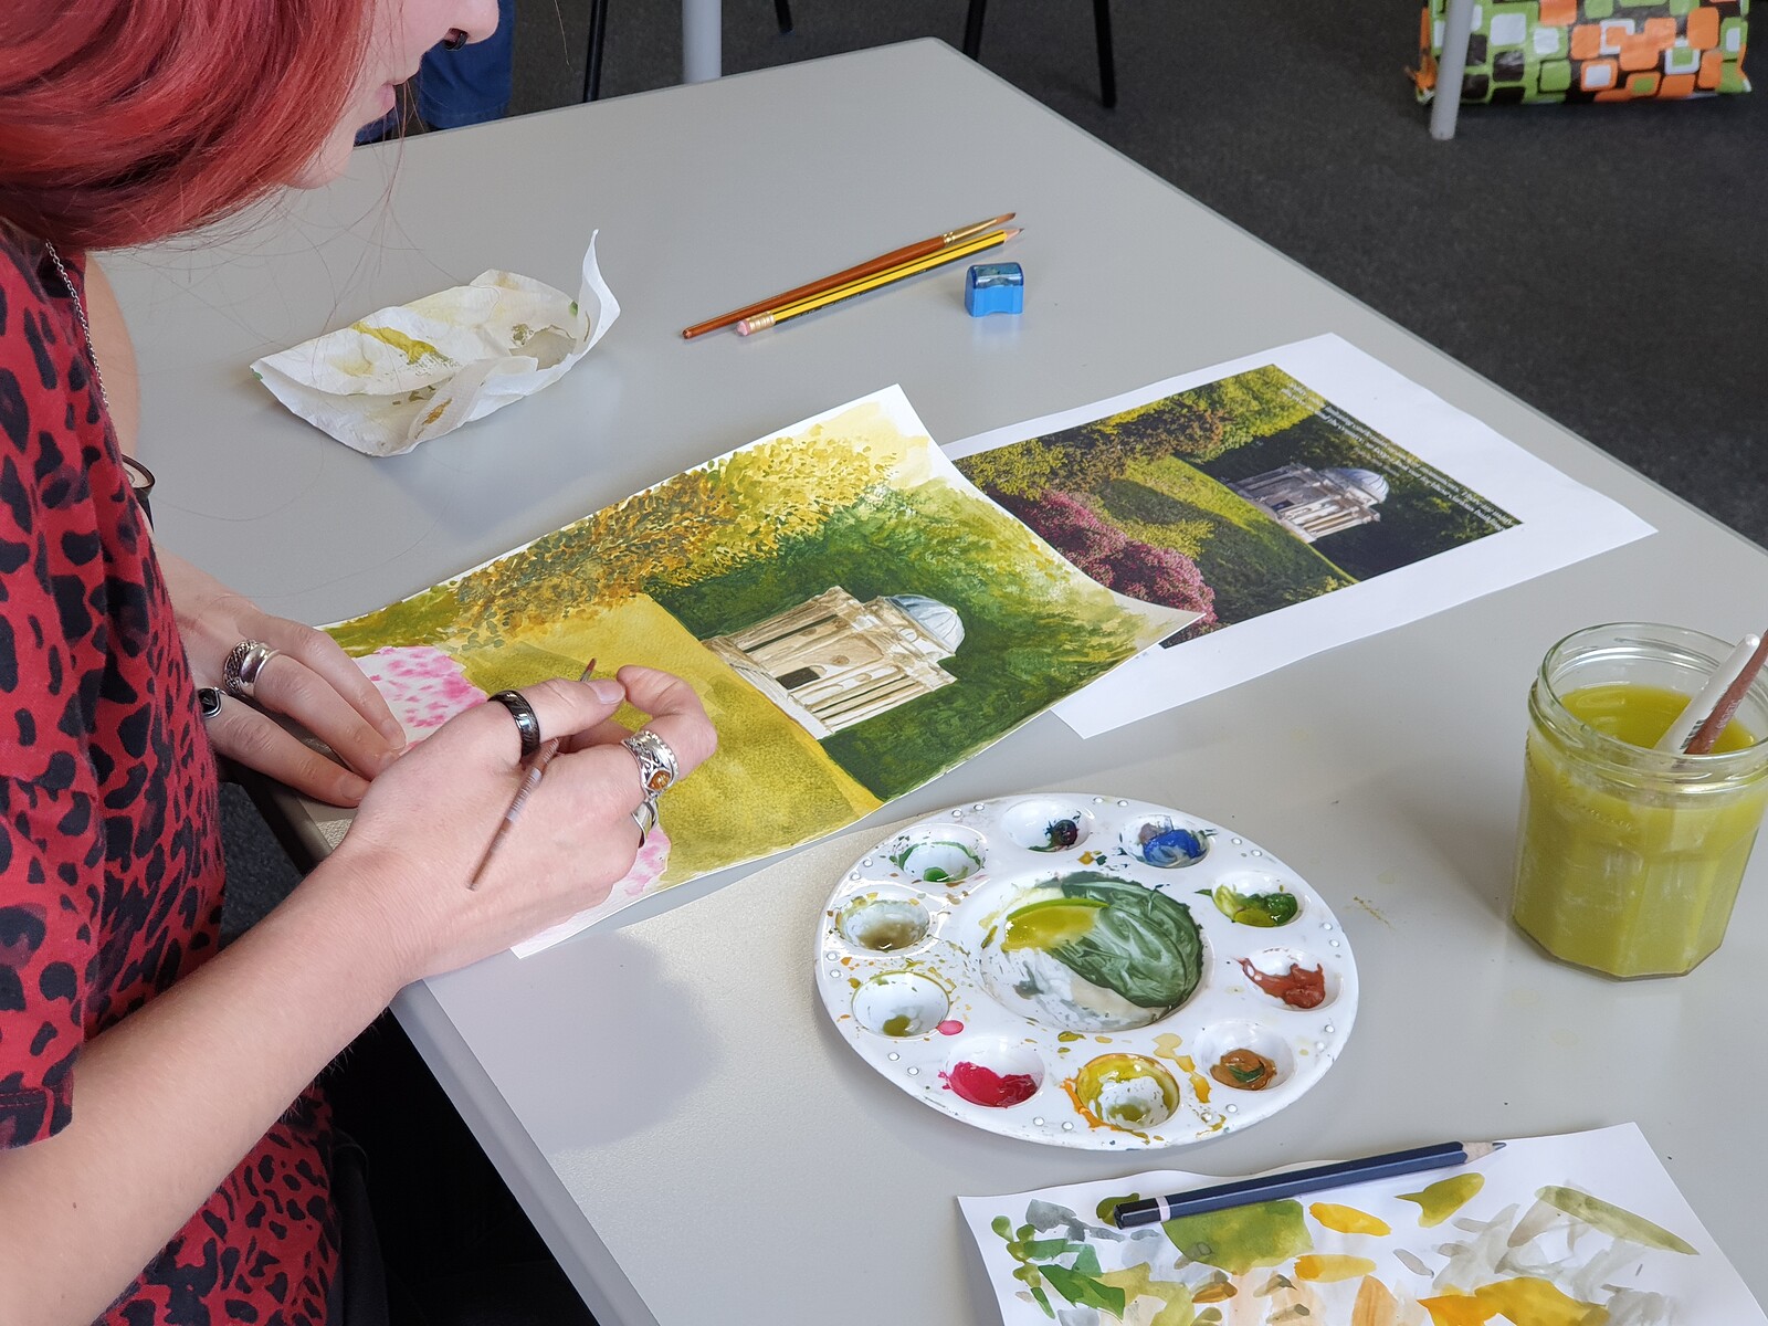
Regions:
[[[398,456],[557,382],[619,315],[591,235],[576,299],[514,272],[483,272],[267,355],[251,371],[345,446]]]

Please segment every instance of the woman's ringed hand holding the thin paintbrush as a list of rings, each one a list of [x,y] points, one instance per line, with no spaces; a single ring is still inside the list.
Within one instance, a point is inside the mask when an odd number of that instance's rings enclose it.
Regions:
[[[338,850],[301,891],[341,889],[368,905],[414,981],[461,967],[594,907],[633,866],[644,799],[638,760],[613,721],[622,702],[675,751],[677,778],[718,737],[693,688],[654,668],[617,681],[546,681],[522,691],[559,755],[469,888],[522,783],[520,734],[500,704],[454,716],[375,780]],[[663,799],[668,817],[668,799]]]

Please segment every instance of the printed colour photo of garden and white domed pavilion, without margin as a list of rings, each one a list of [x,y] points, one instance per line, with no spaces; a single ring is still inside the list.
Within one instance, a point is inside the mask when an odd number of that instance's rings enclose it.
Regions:
[[[1101,585],[1200,613],[1163,644],[1517,523],[1275,364],[958,469]]]

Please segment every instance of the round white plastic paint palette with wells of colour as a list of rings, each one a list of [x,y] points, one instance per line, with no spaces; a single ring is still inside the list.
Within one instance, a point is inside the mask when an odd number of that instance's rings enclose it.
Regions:
[[[829,895],[817,988],[909,1094],[1096,1149],[1276,1114],[1356,1017],[1351,944],[1282,861],[1195,815],[1064,792],[877,843]]]

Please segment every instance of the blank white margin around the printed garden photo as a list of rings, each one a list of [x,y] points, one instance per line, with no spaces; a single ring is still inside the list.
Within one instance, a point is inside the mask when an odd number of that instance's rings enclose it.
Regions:
[[[1361,424],[1379,435],[1376,444],[1409,453],[1423,467],[1446,476],[1452,486],[1471,490],[1473,497],[1508,513],[1519,523],[1317,598],[1234,621],[1211,635],[1149,649],[1055,707],[1063,721],[1084,737],[1653,532],[1651,525],[1618,502],[1559,474],[1338,336],[1317,336],[1167,378],[1107,401],[981,433],[951,444],[946,454],[962,460],[1047,437],[1266,364],[1280,368],[1342,415],[1349,415],[1353,431],[1354,424]],[[1055,486],[1059,484],[1057,477]],[[988,484],[981,486],[988,492]],[[1326,534],[1312,548],[1330,557],[1333,537]]]

